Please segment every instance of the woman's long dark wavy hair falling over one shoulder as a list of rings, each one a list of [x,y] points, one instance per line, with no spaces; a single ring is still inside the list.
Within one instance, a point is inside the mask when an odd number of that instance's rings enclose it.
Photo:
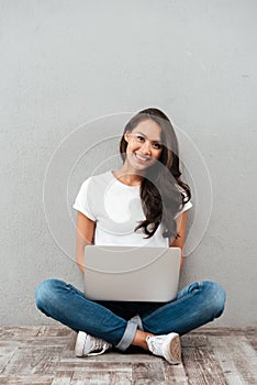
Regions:
[[[163,150],[159,160],[146,168],[142,180],[141,200],[146,219],[139,222],[135,231],[142,228],[146,238],[150,238],[161,222],[163,237],[177,238],[179,234],[175,216],[191,198],[191,191],[190,187],[180,180],[178,140],[168,117],[156,108],[136,113],[125,125],[120,142],[121,157],[125,162],[127,147],[125,132],[133,131],[145,120],[153,120],[160,127]]]

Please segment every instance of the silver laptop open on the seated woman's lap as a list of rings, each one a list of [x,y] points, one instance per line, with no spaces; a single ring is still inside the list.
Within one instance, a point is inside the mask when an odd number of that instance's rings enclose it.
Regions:
[[[85,248],[85,295],[92,300],[166,302],[178,293],[179,248]]]

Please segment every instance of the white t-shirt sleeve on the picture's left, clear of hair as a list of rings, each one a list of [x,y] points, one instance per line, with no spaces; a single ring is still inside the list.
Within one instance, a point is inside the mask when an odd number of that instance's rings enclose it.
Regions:
[[[82,183],[72,208],[77,211],[82,212],[86,217],[88,217],[92,221],[96,221],[97,218],[96,218],[96,215],[93,213],[92,205],[90,205],[90,199],[91,199],[90,197],[91,194],[89,191],[90,180],[91,178],[88,178]]]

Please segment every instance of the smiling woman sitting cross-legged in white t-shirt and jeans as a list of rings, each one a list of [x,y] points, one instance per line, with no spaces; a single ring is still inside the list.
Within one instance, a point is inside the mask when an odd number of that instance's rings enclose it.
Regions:
[[[123,165],[89,177],[74,208],[76,261],[85,271],[85,246],[183,245],[190,188],[180,179],[178,143],[168,117],[158,109],[134,116],[120,143]],[[170,302],[92,301],[74,286],[47,279],[36,289],[36,305],[78,332],[77,356],[137,345],[169,363],[181,362],[179,336],[221,316],[225,293],[213,282],[197,282]]]

